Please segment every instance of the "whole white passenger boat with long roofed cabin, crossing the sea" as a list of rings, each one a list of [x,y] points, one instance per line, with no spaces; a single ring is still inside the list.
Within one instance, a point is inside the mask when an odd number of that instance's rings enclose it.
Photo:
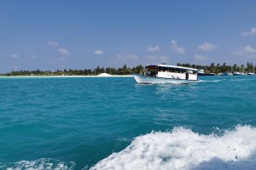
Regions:
[[[197,69],[175,65],[146,65],[145,74],[133,74],[136,82],[144,84],[198,82]]]

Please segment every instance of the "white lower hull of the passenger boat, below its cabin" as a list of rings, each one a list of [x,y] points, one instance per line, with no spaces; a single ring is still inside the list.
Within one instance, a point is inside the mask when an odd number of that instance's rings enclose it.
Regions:
[[[187,84],[191,82],[198,82],[198,80],[183,80],[175,78],[161,78],[161,77],[149,77],[140,74],[133,74],[137,83],[142,84],[159,84],[159,83],[171,83],[171,84]]]

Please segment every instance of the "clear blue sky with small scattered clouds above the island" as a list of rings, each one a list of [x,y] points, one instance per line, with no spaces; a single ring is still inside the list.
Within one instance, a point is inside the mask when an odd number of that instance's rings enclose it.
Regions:
[[[0,2],[0,72],[256,64],[256,1]]]

